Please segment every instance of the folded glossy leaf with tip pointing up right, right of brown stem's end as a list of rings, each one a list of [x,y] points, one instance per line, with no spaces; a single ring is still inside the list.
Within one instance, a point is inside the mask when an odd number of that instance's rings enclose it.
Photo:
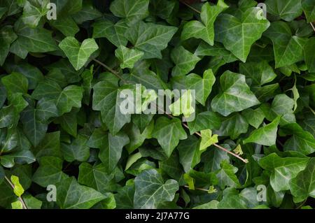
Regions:
[[[276,117],[270,124],[265,125],[259,129],[255,129],[251,136],[246,138],[243,143],[257,143],[260,145],[272,146],[276,144],[276,131],[278,131],[278,125],[280,122],[280,116]]]

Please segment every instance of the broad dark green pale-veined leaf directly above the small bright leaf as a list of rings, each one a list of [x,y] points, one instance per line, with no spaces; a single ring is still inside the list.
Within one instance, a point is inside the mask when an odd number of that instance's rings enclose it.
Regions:
[[[176,27],[137,22],[128,29],[126,36],[136,50],[144,52],[143,59],[162,59],[161,50],[167,48],[176,31]]]

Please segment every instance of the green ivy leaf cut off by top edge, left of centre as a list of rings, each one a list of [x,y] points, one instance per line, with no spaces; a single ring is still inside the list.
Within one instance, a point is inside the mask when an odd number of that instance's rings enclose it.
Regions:
[[[137,22],[148,16],[149,0],[115,0],[110,10],[117,17],[126,18],[127,22]]]

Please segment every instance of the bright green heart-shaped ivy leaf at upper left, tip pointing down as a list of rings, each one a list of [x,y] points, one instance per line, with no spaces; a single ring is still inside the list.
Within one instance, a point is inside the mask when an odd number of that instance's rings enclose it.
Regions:
[[[59,43],[59,48],[64,51],[76,71],[80,70],[90,58],[93,52],[99,49],[99,46],[92,38],[87,38],[80,43],[76,38],[68,36]]]

